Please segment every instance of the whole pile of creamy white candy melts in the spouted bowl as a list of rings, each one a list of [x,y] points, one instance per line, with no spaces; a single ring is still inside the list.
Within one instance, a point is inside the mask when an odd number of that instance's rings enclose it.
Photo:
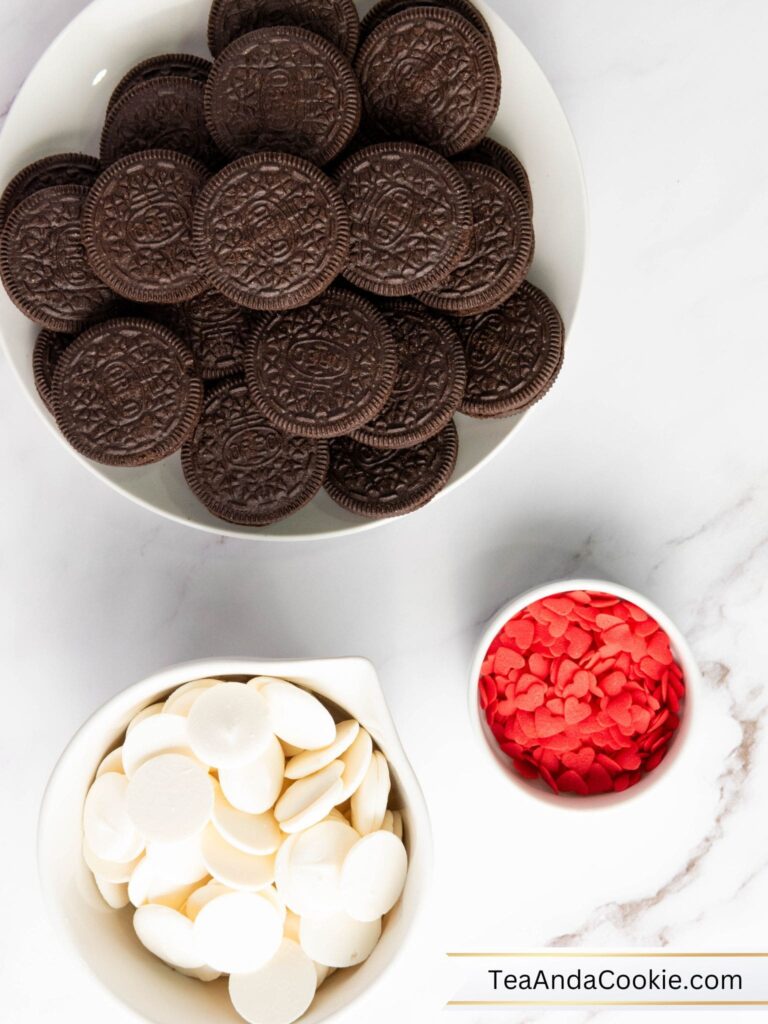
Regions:
[[[361,964],[408,871],[389,766],[283,679],[198,679],[133,719],[85,801],[83,854],[143,945],[229,976],[250,1024],[291,1024]]]

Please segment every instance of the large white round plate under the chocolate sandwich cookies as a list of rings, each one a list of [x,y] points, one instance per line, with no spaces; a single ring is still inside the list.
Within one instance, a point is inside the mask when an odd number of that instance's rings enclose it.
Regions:
[[[358,0],[361,11],[373,0]],[[566,329],[573,321],[584,273],[587,202],[582,167],[565,115],[541,68],[512,29],[475,0],[496,36],[504,91],[493,134],[526,165],[534,187],[537,236],[530,280],[558,306]],[[38,62],[0,135],[0,186],[40,157],[67,151],[98,152],[106,101],[138,60],[164,52],[209,56],[205,27],[210,0],[94,0]],[[32,373],[38,333],[0,288],[0,338],[38,412],[58,431],[40,400]],[[460,451],[447,494],[510,438],[522,416],[477,421],[458,417]],[[62,443],[66,444],[63,438]],[[186,486],[177,456],[139,469],[89,462],[91,472],[145,508],[217,534],[270,540],[314,539],[370,529],[381,520],[345,512],[322,493],[306,508],[266,528],[229,525],[212,516]]]

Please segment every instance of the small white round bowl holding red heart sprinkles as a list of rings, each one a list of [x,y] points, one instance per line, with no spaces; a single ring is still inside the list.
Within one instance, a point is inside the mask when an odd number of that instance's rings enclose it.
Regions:
[[[631,601],[639,608],[642,608],[643,611],[646,611],[651,617],[655,618],[667,633],[672,645],[672,651],[683,670],[685,702],[682,708],[680,726],[672,740],[669,753],[653,771],[648,772],[636,785],[625,790],[624,793],[603,793],[592,797],[579,797],[569,794],[558,796],[545,782],[523,778],[522,775],[515,771],[511,760],[499,748],[480,708],[477,686],[480,678],[480,668],[492,641],[501,628],[510,618],[513,618],[518,612],[535,601],[541,601],[542,598],[552,597],[555,594],[562,594],[570,590],[586,590],[600,594],[610,594],[625,601]],[[608,583],[605,580],[558,580],[554,583],[544,584],[541,587],[535,587],[532,590],[528,590],[519,597],[516,597],[509,604],[505,604],[488,623],[477,647],[477,653],[472,662],[472,671],[469,677],[469,716],[472,723],[472,731],[484,751],[488,763],[496,770],[502,772],[504,777],[509,779],[510,782],[513,782],[519,790],[536,800],[545,801],[548,804],[567,810],[591,811],[612,807],[628,800],[646,797],[653,786],[662,781],[669,780],[675,774],[680,764],[681,755],[687,745],[687,739],[695,714],[699,686],[700,673],[698,666],[685,637],[665,612],[647,597],[643,597],[642,594],[638,594],[637,591],[630,590],[628,587]]]

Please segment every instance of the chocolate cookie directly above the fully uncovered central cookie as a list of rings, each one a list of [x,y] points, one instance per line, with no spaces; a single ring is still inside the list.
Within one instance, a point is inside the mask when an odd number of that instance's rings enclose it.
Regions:
[[[354,72],[327,39],[292,26],[236,39],[206,86],[211,134],[228,157],[280,150],[327,164],[357,130]]]

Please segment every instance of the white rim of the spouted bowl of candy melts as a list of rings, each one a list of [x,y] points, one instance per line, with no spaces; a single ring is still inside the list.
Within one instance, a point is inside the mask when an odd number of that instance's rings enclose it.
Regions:
[[[353,668],[356,665],[361,670],[366,670],[371,674],[374,685],[368,687],[368,692],[361,694],[361,699],[369,701],[372,715],[378,714],[383,716],[382,721],[388,735],[383,743],[376,739],[376,737],[375,741],[377,744],[381,745],[388,761],[391,760],[390,756],[392,752],[396,754],[397,774],[402,782],[402,790],[407,791],[407,804],[411,818],[412,834],[414,828],[418,827],[418,869],[421,889],[419,891],[412,918],[404,929],[401,941],[395,947],[387,964],[384,965],[384,968],[371,979],[365,989],[355,993],[348,999],[343,1008],[343,1012],[346,1012],[349,1007],[362,1002],[371,997],[373,992],[378,989],[379,985],[383,984],[385,977],[389,975],[392,969],[402,959],[403,955],[411,947],[412,942],[414,942],[416,935],[418,934],[420,921],[423,916],[424,907],[428,899],[429,884],[432,877],[432,827],[424,793],[402,746],[397,727],[389,712],[389,707],[373,663],[369,658],[357,655],[293,658],[223,655],[221,657],[213,656],[177,663],[161,669],[160,671],[153,673],[151,676],[147,676],[144,679],[130,684],[120,690],[98,707],[82,723],[82,725],[80,725],[62,750],[51,770],[38,813],[38,879],[48,918],[54,925],[61,944],[68,952],[71,955],[74,955],[77,961],[85,967],[88,975],[98,983],[101,991],[105,992],[110,999],[114,1001],[116,1006],[121,1008],[124,1014],[136,1021],[136,1024],[139,1024],[139,1022],[141,1022],[141,1024],[146,1024],[147,1018],[142,1016],[133,1007],[126,1004],[117,994],[117,992],[115,992],[110,985],[106,984],[95,969],[92,968],[88,958],[81,952],[79,943],[75,940],[71,933],[67,914],[61,905],[61,901],[57,896],[54,880],[51,878],[50,870],[44,866],[44,860],[49,858],[50,851],[53,849],[56,841],[55,833],[51,833],[48,827],[48,818],[50,816],[49,807],[55,802],[56,799],[57,780],[67,774],[71,762],[77,763],[79,748],[91,733],[103,733],[105,727],[109,728],[110,731],[114,731],[116,718],[119,718],[121,714],[125,713],[125,711],[135,707],[137,703],[152,702],[155,697],[160,696],[168,690],[172,690],[174,687],[181,685],[183,682],[193,679],[217,678],[219,676],[226,678],[249,675],[274,675],[279,678],[283,677],[289,680],[291,678],[300,679],[305,675],[305,672],[302,670],[308,669],[308,672],[306,673],[308,675],[311,671],[311,666],[317,665],[322,665],[327,668],[332,666],[346,666]],[[279,670],[282,670],[282,672]],[[319,692],[319,690],[317,692]],[[339,707],[343,709],[344,706],[337,701],[334,697],[328,696],[327,698],[332,700],[332,702],[339,703]],[[386,750],[384,750],[385,746]],[[94,772],[96,767],[97,765],[93,765]],[[403,798],[404,797],[406,793],[403,792]],[[411,865],[409,865],[409,870],[410,869]],[[333,1021],[340,1012],[342,1011],[331,1011],[322,1018],[322,1022],[319,1022],[319,1024],[324,1024],[326,1021]]]

